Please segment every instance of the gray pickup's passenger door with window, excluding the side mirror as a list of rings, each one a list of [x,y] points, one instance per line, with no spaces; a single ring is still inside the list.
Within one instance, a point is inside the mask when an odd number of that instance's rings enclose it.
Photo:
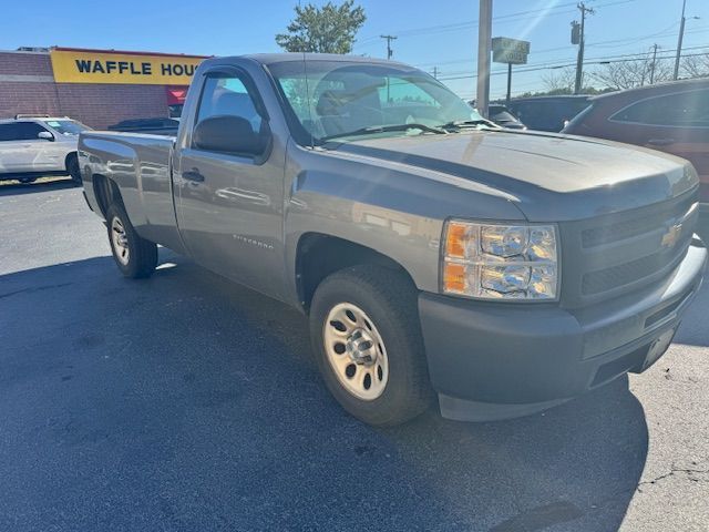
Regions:
[[[214,116],[247,120],[267,129],[264,105],[239,69],[207,72],[202,80],[196,129]],[[196,89],[196,88],[195,88]],[[192,135],[177,151],[174,182],[177,224],[195,260],[259,291],[278,297],[282,285],[282,151],[248,157],[195,147]]]

